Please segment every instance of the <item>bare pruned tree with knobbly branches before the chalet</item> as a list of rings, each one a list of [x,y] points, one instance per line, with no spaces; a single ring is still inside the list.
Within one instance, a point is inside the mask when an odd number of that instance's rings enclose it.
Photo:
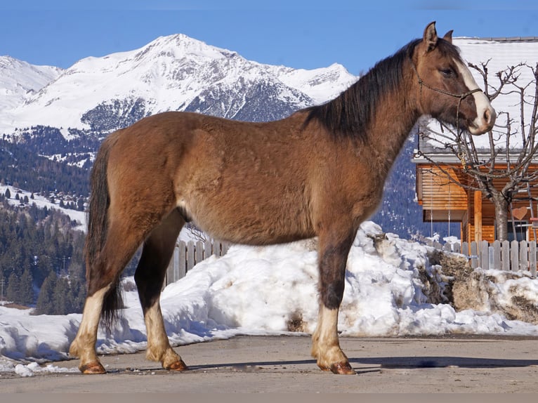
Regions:
[[[494,74],[496,80],[491,83],[487,70],[489,62],[480,65],[469,63],[469,67],[483,77],[487,97],[492,101],[510,97],[509,110],[517,107],[518,116],[511,116],[508,110],[497,110],[497,123],[487,134],[487,142],[457,128],[423,123],[419,127],[421,143],[430,143],[436,152],[453,154],[460,163],[451,165],[449,170],[435,157],[435,152],[419,150],[416,156],[433,164],[436,169],[432,172],[467,190],[478,190],[490,199],[495,209],[497,239],[502,241],[508,237],[508,211],[512,202],[522,190],[527,190],[530,197],[530,189],[536,186],[538,179],[538,172],[531,169],[532,163],[537,162],[534,155],[538,150],[538,63],[528,65],[522,62],[506,67]],[[524,70],[530,72],[530,81],[520,79]],[[518,104],[513,105],[516,99]]]

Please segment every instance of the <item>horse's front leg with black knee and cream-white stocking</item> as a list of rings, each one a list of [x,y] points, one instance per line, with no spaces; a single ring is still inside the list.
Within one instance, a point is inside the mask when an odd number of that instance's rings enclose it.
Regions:
[[[338,312],[352,243],[353,232],[340,237],[320,235],[320,310],[312,336],[312,356],[317,366],[334,374],[355,374],[338,339]]]

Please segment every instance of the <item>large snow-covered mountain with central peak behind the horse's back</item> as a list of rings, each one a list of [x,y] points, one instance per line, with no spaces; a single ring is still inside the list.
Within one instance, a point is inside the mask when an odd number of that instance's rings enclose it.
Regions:
[[[47,85],[32,88],[39,91],[2,108],[0,133],[30,126],[61,128],[66,138],[68,128],[108,133],[167,110],[279,119],[334,98],[357,79],[338,64],[316,70],[263,65],[183,34],[51,72]]]

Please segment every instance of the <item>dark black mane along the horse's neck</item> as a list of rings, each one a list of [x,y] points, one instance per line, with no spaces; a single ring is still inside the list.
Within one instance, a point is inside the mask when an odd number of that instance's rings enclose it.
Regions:
[[[421,39],[415,39],[394,55],[374,65],[367,74],[343,91],[334,100],[306,108],[310,121],[319,121],[334,136],[345,136],[366,140],[365,136],[372,112],[382,95],[398,88],[402,81],[402,66],[412,57],[414,48]]]

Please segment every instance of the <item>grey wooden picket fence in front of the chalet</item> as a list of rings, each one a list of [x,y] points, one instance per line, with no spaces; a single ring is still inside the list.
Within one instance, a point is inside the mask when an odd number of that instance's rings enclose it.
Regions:
[[[482,267],[485,270],[523,270],[530,272],[532,277],[536,277],[538,260],[536,241],[495,241],[493,244],[482,241],[444,245],[438,242],[425,243],[443,251],[461,253],[466,256],[473,268]]]

